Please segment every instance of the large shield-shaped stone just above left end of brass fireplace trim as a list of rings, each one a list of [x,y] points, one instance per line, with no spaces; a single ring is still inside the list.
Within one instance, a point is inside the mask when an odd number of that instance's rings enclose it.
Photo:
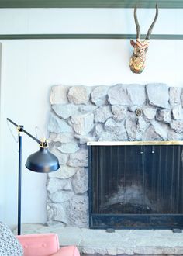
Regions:
[[[93,113],[71,116],[71,123],[76,133],[80,135],[88,134],[94,126],[94,115]]]

